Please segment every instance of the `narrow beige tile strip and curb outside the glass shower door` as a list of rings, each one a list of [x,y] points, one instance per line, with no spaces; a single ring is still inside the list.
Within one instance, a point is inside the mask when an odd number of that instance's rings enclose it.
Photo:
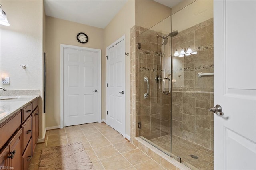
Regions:
[[[166,169],[176,169],[174,166],[175,163],[170,163],[171,160],[169,157],[165,158],[166,155],[162,153],[157,154],[157,152],[153,151],[136,140],[136,137],[139,136],[140,130],[138,129],[138,121],[139,121],[139,54],[138,54],[138,35],[144,32],[145,29],[139,26],[134,26],[130,29],[130,77],[131,77],[131,138],[130,141],[137,146],[140,150],[142,150],[145,154],[147,154],[150,158],[154,159],[161,166],[164,166]],[[175,161],[176,162],[176,161]],[[180,166],[180,165],[179,165]]]

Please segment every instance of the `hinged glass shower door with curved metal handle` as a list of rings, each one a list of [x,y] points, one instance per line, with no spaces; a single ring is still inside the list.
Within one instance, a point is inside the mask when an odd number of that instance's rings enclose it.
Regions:
[[[163,27],[163,25],[165,27]],[[166,39],[165,50],[161,51],[163,39],[170,32],[170,17],[156,24],[150,29],[140,27],[138,36],[138,62],[139,62],[139,112],[138,120],[141,125],[139,136],[162,150],[171,154],[171,93],[163,94],[162,77],[171,80],[171,39]],[[168,30],[168,31],[167,31]],[[160,55],[162,53],[162,55]],[[160,70],[161,65],[161,70]],[[159,76],[160,75],[160,76]],[[149,89],[147,81],[148,79]],[[160,84],[159,78],[160,77]],[[159,86],[160,85],[160,86]],[[168,91],[166,81],[164,91]],[[147,98],[144,95],[149,92]]]

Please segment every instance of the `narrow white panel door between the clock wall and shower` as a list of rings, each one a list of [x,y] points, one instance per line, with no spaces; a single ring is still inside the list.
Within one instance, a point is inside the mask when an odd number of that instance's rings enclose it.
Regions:
[[[107,50],[107,123],[125,135],[125,44]]]

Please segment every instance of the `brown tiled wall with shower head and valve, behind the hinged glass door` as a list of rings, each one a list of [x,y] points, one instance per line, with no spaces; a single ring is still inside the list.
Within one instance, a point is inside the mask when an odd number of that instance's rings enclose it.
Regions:
[[[147,139],[158,138],[170,134],[171,93],[164,95],[159,91],[159,83],[155,77],[160,70],[160,45],[163,35],[154,30],[139,28],[141,49],[139,50],[139,121],[141,122],[140,136]],[[170,39],[170,38],[169,38]],[[168,40],[169,40],[168,39]],[[165,45],[164,57],[166,77],[171,79],[171,56],[169,55],[170,43]],[[163,69],[161,62],[161,70]],[[149,97],[144,99],[147,92],[147,83],[144,77],[149,79]],[[167,87],[167,86],[166,86]]]

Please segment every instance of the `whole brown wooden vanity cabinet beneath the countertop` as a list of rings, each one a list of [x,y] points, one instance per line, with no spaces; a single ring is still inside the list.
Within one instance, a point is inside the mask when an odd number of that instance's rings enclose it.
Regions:
[[[0,166],[28,170],[39,137],[38,99],[0,125]]]

